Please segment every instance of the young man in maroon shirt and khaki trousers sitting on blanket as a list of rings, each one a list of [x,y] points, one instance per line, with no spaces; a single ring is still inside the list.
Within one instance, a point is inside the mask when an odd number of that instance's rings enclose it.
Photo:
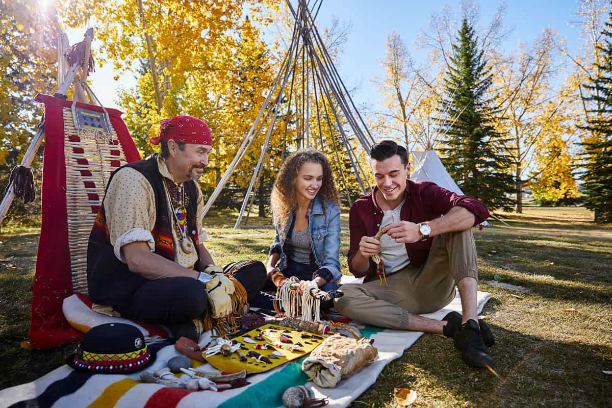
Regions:
[[[363,284],[341,287],[341,314],[380,327],[452,337],[463,360],[493,366],[493,334],[477,315],[477,254],[471,227],[488,218],[475,198],[431,182],[408,179],[408,152],[393,141],[370,150],[374,190],[353,202],[349,215],[349,270]],[[381,231],[380,239],[376,234]],[[385,279],[371,256],[380,254]],[[459,289],[463,314],[442,321],[419,314],[446,306]]]

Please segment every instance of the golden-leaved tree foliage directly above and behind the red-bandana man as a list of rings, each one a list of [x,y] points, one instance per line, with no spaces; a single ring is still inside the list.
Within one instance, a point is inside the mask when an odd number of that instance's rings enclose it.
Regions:
[[[211,125],[215,150],[201,185],[214,187],[272,83],[274,61],[258,27],[269,23],[280,1],[208,0],[198,7],[174,0],[80,3],[58,4],[64,21],[75,26],[91,19],[103,43],[102,58],[119,72],[137,67],[136,86],[119,100],[141,153],[153,151],[147,141],[160,119],[202,117]],[[228,191],[248,185],[250,177],[242,171],[252,171],[252,157],[244,158]]]

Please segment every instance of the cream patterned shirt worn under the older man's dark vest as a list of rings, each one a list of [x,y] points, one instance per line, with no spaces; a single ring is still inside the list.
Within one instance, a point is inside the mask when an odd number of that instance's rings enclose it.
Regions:
[[[168,171],[166,163],[161,157],[157,157],[157,165],[163,177],[174,182],[174,177]],[[204,213],[204,198],[200,185],[198,187],[198,213],[196,215],[196,226],[200,231],[200,244],[206,240],[206,231],[202,227],[202,215]],[[174,220],[171,213],[170,197],[166,194],[166,206],[168,217]],[[155,241],[151,234],[155,226],[155,193],[153,187],[146,177],[138,170],[126,167],[118,171],[108,185],[104,198],[104,211],[106,213],[106,225],[110,232],[111,245],[114,254],[122,262],[125,262],[122,247],[132,242],[146,242],[151,251],[155,250]],[[175,221],[176,222],[176,221]],[[174,241],[174,262],[189,269],[193,269],[198,261],[196,251],[188,254],[182,250],[181,238],[177,237],[176,229],[172,229]],[[195,234],[195,231],[189,231]]]

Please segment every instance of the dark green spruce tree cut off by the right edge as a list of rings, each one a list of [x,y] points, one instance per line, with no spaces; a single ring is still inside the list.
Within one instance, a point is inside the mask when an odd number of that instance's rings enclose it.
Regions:
[[[591,132],[582,143],[584,172],[582,173],[586,207],[595,211],[595,221],[612,223],[612,12],[602,31],[603,42],[597,46],[602,53],[599,75],[584,86],[588,96],[589,119],[584,129]]]

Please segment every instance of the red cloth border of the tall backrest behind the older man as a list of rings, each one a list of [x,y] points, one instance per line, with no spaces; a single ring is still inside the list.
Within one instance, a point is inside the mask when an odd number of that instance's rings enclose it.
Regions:
[[[62,302],[73,294],[72,270],[70,261],[68,216],[67,216],[67,155],[69,150],[78,154],[78,147],[67,144],[65,130],[65,109],[72,106],[71,100],[56,98],[51,95],[38,94],[34,98],[45,104],[45,151],[42,170],[42,226],[36,258],[36,273],[32,289],[32,310],[30,338],[37,349],[47,349],[59,344],[77,341],[82,333],[72,328],[62,313]],[[100,106],[87,103],[76,103],[76,108],[86,111],[103,112]],[[113,139],[115,149],[122,153],[127,163],[140,160],[136,145],[121,119],[121,111],[106,108],[111,126],[116,133]],[[78,142],[72,136],[70,142]],[[69,150],[66,150],[68,146]],[[81,152],[82,153],[82,152]],[[111,150],[111,154],[115,154]],[[87,165],[86,159],[80,159],[81,165]],[[113,166],[124,164],[113,160]],[[92,169],[96,171],[96,169]],[[87,171],[81,171],[87,176]],[[83,182],[85,183],[85,182]],[[88,181],[91,185],[91,181]],[[105,188],[105,186],[97,186]],[[102,202],[102,196],[88,195],[89,199]],[[98,212],[99,206],[92,205],[92,214]],[[92,221],[93,226],[93,221]],[[88,234],[89,236],[89,234]]]

